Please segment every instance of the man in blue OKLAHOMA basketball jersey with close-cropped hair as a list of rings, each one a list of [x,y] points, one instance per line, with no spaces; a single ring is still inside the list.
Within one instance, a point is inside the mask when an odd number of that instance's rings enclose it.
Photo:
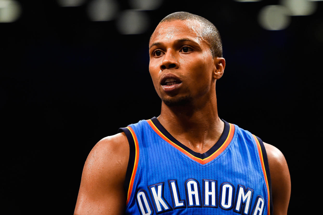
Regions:
[[[214,25],[168,15],[149,53],[161,114],[95,145],[75,214],[287,214],[283,154],[218,117],[215,83],[225,60]]]

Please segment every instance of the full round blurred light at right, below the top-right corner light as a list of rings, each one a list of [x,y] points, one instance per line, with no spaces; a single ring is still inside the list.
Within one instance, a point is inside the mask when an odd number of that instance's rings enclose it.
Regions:
[[[258,20],[267,30],[282,30],[290,23],[289,11],[282,5],[267,5],[260,10]]]

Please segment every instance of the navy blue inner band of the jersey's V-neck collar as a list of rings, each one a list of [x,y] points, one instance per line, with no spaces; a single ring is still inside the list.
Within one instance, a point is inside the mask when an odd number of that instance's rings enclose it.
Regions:
[[[223,119],[221,119],[224,122],[224,130],[223,133],[220,137],[220,139],[214,143],[214,145],[211,147],[211,149],[209,149],[207,152],[204,152],[203,154],[198,153],[193,151],[192,149],[188,148],[187,146],[183,145],[181,142],[179,142],[178,140],[176,140],[162,125],[161,123],[158,121],[158,119],[156,117],[151,118],[151,121],[154,123],[154,125],[158,128],[158,130],[165,135],[168,139],[170,139],[172,142],[174,142],[176,145],[178,145],[179,147],[181,147],[182,149],[184,149],[185,151],[189,152],[191,155],[200,158],[200,159],[204,159],[207,157],[210,157],[216,150],[218,150],[224,143],[224,141],[226,140],[226,138],[229,135],[229,131],[230,131],[230,124],[228,122],[225,122]]]

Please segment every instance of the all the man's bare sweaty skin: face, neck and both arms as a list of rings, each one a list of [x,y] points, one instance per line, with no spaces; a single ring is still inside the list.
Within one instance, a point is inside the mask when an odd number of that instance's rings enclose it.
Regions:
[[[159,24],[149,43],[149,71],[162,100],[159,122],[179,142],[204,153],[224,129],[217,112],[215,82],[223,75],[225,60],[212,56],[201,32],[196,21]],[[264,144],[274,215],[286,215],[291,189],[287,162],[276,147]],[[128,160],[129,143],[124,133],[106,137],[94,146],[84,165],[75,215],[124,213]]]

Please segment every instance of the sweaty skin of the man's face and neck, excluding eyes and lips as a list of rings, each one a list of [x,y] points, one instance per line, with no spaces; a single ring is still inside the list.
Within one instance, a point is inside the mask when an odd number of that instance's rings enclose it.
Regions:
[[[194,24],[175,20],[158,25],[150,41],[149,71],[163,101],[158,120],[178,141],[204,153],[224,129],[216,108],[215,82],[223,75],[225,60],[212,57],[210,45],[196,30],[200,25]],[[167,74],[178,76],[182,82],[171,92],[161,84]],[[164,102],[176,103],[187,97],[191,101],[185,105],[169,107]]]

